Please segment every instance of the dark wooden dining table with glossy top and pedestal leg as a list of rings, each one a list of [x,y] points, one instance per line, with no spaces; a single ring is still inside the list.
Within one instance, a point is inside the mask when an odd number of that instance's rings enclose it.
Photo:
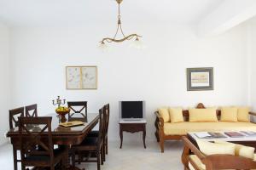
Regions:
[[[99,121],[99,114],[98,113],[88,113],[86,119],[84,119],[84,124],[75,126],[75,127],[62,127],[60,125],[59,116],[55,113],[48,114],[45,116],[51,116],[51,129],[52,129],[52,139],[53,144],[58,144],[60,147],[65,147],[67,151],[65,152],[64,157],[64,167],[65,169],[79,169],[78,167],[72,167],[70,165],[68,151],[72,145],[81,144],[84,138],[90,133],[90,131],[96,127],[97,122]],[[72,120],[67,120],[70,122]],[[15,127],[10,129],[9,132],[6,134],[7,137],[10,138],[11,144],[13,146],[18,146],[20,144],[19,141],[19,127]],[[42,135],[44,138],[44,135]]]

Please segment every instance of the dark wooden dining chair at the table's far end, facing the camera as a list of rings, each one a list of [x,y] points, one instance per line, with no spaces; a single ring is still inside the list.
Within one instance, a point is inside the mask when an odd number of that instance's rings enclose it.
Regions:
[[[68,121],[87,122],[87,101],[68,101]]]

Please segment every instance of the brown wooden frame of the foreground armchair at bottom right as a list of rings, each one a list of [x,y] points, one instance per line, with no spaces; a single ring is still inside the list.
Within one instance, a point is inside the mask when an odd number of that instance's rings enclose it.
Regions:
[[[182,155],[182,162],[184,170],[189,170],[189,163],[195,168],[200,170],[195,162],[189,158],[189,155],[195,154],[203,164],[206,165],[206,170],[214,169],[254,169],[256,167],[256,161],[241,156],[230,156],[224,154],[216,154],[211,156],[204,155],[189,139],[182,137],[184,142],[184,149]]]

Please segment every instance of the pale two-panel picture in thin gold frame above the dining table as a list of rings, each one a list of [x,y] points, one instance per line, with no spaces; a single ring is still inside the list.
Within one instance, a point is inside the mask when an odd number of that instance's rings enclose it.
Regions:
[[[67,89],[97,89],[97,66],[66,66]]]

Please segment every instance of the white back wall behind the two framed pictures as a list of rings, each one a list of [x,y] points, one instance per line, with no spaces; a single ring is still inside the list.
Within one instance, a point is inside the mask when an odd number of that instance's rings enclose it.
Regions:
[[[125,27],[143,34],[148,48],[116,45],[104,54],[97,42],[113,26],[16,27],[12,29],[12,107],[38,103],[40,115],[54,111],[51,99],[88,100],[89,112],[110,103],[110,139],[119,139],[118,101],[144,99],[148,139],[154,111],[162,105],[247,105],[246,27],[199,39],[187,26]],[[97,65],[97,90],[66,90],[65,66]],[[214,91],[188,92],[186,68],[214,67]],[[133,134],[129,139],[135,139]],[[130,137],[125,134],[125,141]],[[124,142],[125,142],[124,141]]]

